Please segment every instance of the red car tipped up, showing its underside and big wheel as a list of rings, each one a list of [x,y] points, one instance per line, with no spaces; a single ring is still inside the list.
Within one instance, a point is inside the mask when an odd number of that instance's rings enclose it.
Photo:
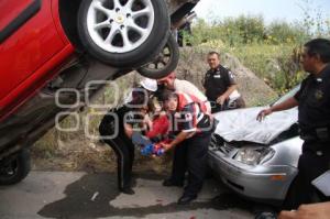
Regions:
[[[78,111],[105,86],[96,84],[86,89],[89,83],[113,80],[139,69],[162,52],[169,39],[168,4],[173,12],[170,21],[177,23],[197,3],[196,0],[130,2],[112,1],[112,6],[110,0],[0,0],[0,185],[22,180],[30,171],[28,147],[55,125],[54,118],[58,116],[61,121],[66,113]],[[148,17],[136,13],[145,8],[152,9]],[[111,23],[113,19],[117,29]],[[96,28],[100,23],[106,23],[106,28]],[[118,33],[124,24],[122,37],[107,33],[110,30]],[[135,34],[131,34],[132,25]],[[141,29],[147,33],[145,37],[143,33],[136,35]],[[105,44],[109,36],[112,40]],[[120,46],[136,42],[141,43],[120,51]],[[140,74],[161,78],[172,70],[151,69]],[[57,92],[62,89],[75,91]],[[84,100],[75,99],[78,96],[84,96]]]

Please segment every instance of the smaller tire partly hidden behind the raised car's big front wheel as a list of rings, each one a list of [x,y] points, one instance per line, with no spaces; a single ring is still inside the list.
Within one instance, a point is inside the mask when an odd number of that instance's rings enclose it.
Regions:
[[[138,72],[150,78],[162,78],[175,70],[179,61],[179,48],[175,37],[169,34],[162,52],[154,61],[138,69]]]

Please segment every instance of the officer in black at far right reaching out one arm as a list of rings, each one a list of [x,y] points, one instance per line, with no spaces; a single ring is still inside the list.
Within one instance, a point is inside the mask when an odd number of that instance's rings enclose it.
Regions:
[[[316,39],[306,43],[301,63],[310,74],[302,80],[299,91],[257,116],[262,120],[272,112],[298,106],[300,138],[305,141],[299,172],[284,206],[288,209],[311,202],[317,193],[311,182],[330,168],[330,41]]]

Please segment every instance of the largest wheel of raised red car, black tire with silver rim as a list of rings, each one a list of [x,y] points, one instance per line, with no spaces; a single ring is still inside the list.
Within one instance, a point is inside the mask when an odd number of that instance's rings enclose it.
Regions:
[[[124,0],[124,6],[122,2],[82,0],[78,33],[86,51],[99,61],[114,67],[138,68],[157,55],[167,41],[167,7],[164,0]]]

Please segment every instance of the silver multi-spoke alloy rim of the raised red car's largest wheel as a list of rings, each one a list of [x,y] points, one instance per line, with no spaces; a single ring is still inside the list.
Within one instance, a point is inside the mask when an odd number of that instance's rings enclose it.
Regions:
[[[141,46],[154,26],[151,0],[92,0],[87,30],[100,48],[128,53]]]

